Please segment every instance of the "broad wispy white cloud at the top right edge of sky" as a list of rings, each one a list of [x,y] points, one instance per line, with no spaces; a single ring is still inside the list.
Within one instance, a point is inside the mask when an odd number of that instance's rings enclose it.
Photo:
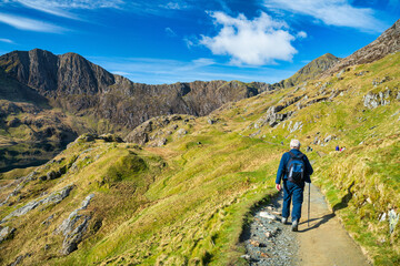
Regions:
[[[270,9],[311,16],[328,25],[350,27],[363,31],[381,31],[384,25],[369,8],[354,8],[348,0],[264,0]]]

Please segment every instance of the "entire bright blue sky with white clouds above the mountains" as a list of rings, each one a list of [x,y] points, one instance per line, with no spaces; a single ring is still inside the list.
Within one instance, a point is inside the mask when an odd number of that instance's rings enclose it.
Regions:
[[[273,83],[398,19],[399,0],[0,0],[0,53],[76,52],[149,84]]]

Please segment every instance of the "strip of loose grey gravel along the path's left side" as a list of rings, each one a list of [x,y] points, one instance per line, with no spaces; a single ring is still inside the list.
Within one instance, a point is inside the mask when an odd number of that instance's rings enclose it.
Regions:
[[[247,254],[242,257],[251,266],[296,265],[298,242],[291,232],[291,223],[281,223],[280,194],[272,203],[261,206],[254,212],[253,222],[244,229],[242,241]]]

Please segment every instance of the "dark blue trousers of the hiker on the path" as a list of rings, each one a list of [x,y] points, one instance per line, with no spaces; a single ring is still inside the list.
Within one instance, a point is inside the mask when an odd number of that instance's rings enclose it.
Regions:
[[[294,184],[290,181],[283,180],[283,207],[282,217],[288,218],[290,214],[290,202],[293,200],[292,221],[300,221],[301,204],[303,202],[304,182]]]

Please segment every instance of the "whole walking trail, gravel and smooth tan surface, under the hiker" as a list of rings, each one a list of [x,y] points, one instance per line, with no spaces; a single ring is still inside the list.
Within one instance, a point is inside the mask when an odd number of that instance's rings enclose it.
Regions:
[[[370,265],[361,248],[348,235],[338,217],[328,208],[318,187],[311,185],[311,212],[308,226],[308,185],[299,232],[291,223],[281,224],[282,193],[254,214],[243,232],[243,257],[250,265],[363,266]]]

